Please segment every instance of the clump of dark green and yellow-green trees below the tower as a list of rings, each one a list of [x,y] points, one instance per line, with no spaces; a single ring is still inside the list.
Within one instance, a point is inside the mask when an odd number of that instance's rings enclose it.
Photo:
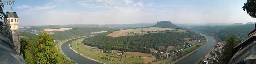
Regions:
[[[21,51],[28,64],[74,63],[60,55],[53,45],[54,40],[50,35],[44,32],[34,38],[36,41],[31,41],[26,37],[21,38]]]

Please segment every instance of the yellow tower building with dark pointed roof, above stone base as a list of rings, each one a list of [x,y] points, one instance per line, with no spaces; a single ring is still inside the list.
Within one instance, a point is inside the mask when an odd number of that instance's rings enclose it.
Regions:
[[[4,24],[7,24],[10,30],[19,29],[19,17],[12,8],[4,16]]]

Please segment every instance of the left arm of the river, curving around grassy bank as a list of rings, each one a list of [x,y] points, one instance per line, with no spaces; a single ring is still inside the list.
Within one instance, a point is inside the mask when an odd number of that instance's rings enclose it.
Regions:
[[[84,37],[82,37],[82,38],[84,38]],[[81,39],[81,38],[76,38],[76,39]],[[61,45],[61,49],[64,52],[64,54],[67,55],[68,58],[72,59],[73,61],[75,61],[78,64],[101,64],[99,62],[87,59],[84,56],[81,56],[81,55],[75,53],[73,50],[69,49],[68,44],[71,44],[71,42],[76,39],[69,40]]]

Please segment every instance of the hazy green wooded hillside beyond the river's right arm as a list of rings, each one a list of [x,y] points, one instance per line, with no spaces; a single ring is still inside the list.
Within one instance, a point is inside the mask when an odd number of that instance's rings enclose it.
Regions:
[[[225,41],[228,36],[232,35],[235,35],[238,39],[247,38],[247,34],[254,29],[254,24],[232,26],[195,26],[190,29],[217,35],[220,40]]]

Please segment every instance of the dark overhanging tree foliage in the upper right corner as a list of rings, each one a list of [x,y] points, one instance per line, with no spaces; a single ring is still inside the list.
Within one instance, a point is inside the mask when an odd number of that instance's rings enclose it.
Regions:
[[[256,18],[256,2],[255,0],[247,0],[247,3],[244,3],[244,11],[252,18]]]

